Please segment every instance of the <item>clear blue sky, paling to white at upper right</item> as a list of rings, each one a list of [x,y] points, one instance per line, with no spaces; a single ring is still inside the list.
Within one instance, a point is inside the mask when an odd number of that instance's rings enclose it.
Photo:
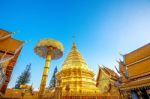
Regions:
[[[150,42],[149,0],[0,0],[0,28],[17,32],[14,38],[26,41],[13,70],[9,87],[29,63],[31,81],[38,89],[45,60],[34,53],[42,38],[64,44],[64,55],[51,63],[49,84],[55,66],[61,68],[76,43],[89,68],[97,74],[98,64],[111,69],[121,58]]]

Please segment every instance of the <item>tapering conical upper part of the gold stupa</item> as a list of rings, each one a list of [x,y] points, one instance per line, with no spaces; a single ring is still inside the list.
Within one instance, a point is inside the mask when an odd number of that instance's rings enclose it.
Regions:
[[[66,68],[88,69],[88,65],[78,51],[75,42],[73,43],[72,49],[63,63],[62,69]]]

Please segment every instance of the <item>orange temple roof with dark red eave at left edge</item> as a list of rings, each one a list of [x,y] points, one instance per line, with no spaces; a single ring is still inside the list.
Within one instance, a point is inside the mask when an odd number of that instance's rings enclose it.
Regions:
[[[23,42],[13,39],[12,33],[0,29],[0,64],[2,64],[6,75],[6,81],[0,92],[5,93],[11,78],[12,70],[21,52]]]

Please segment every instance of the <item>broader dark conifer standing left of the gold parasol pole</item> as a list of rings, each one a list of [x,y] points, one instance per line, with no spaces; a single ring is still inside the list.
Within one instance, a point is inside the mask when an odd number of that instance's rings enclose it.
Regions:
[[[31,64],[26,65],[25,70],[17,78],[15,89],[20,89],[20,85],[27,84],[30,82],[30,77],[31,77],[30,70],[31,70]]]

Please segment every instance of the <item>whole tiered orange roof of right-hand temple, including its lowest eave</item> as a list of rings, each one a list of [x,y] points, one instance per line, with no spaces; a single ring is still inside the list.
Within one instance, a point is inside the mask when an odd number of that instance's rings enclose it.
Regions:
[[[124,55],[124,66],[119,63],[123,77],[121,90],[150,86],[150,43]],[[125,77],[128,67],[128,78]]]

